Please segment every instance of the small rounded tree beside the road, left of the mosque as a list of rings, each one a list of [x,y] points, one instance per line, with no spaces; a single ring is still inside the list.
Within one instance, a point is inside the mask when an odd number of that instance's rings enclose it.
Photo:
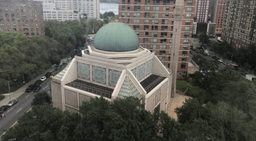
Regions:
[[[31,105],[32,106],[42,105],[44,103],[50,104],[50,103],[52,103],[51,99],[52,98],[47,94],[46,91],[37,92],[35,97],[33,98]]]

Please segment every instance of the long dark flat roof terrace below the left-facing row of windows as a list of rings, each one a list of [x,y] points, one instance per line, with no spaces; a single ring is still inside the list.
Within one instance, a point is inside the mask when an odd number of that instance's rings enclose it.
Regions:
[[[66,85],[70,86],[70,87],[73,87],[73,88],[76,88],[76,89],[88,91],[90,93],[93,93],[93,94],[96,94],[96,95],[99,95],[99,96],[103,96],[103,97],[106,97],[106,98],[111,98],[111,95],[114,91],[114,89],[107,88],[107,87],[104,87],[104,86],[100,86],[100,85],[97,85],[97,84],[93,84],[93,83],[90,83],[90,82],[85,82],[85,81],[78,80],[78,79],[76,79],[72,82],[69,82]]]

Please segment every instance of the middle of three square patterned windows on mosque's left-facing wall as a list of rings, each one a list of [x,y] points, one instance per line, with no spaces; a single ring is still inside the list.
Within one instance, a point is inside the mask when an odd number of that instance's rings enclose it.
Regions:
[[[106,84],[106,68],[92,66],[92,81]]]

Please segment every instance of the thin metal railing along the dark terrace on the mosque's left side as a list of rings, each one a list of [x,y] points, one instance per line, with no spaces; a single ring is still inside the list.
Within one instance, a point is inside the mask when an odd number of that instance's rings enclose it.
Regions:
[[[100,96],[104,96],[107,98],[111,98],[111,96],[112,96],[112,92],[110,92],[110,91],[98,89],[98,88],[88,86],[88,85],[85,85],[82,83],[72,81],[72,82],[69,82],[68,84],[70,86],[76,87],[78,89],[81,89],[81,90],[84,89],[85,91],[88,91],[88,92],[91,92],[91,93],[94,93],[94,94],[97,94]]]

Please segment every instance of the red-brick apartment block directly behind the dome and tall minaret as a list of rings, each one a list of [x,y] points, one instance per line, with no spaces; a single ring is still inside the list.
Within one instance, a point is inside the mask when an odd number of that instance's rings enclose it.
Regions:
[[[183,0],[183,3],[184,6],[181,7],[185,13],[183,13],[181,34],[178,38],[178,60],[175,60],[178,61],[178,78],[182,77],[184,72],[188,72],[188,67],[191,66],[189,62],[192,60],[189,58],[189,50],[196,4],[193,0]],[[154,52],[158,59],[169,68],[174,61],[171,59],[171,54],[174,53],[172,49],[175,48],[173,46],[173,31],[176,30],[173,25],[174,5],[174,0],[119,1],[119,22],[130,25],[139,37],[140,46]]]

